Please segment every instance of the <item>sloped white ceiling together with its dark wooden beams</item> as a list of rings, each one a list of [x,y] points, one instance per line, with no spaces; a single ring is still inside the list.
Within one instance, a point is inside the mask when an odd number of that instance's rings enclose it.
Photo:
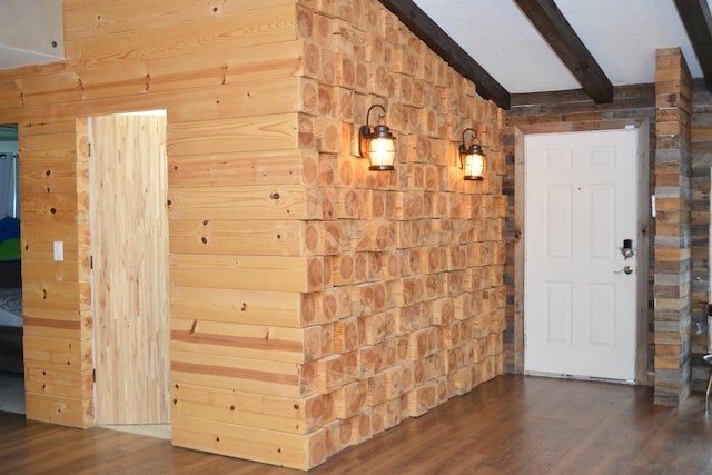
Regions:
[[[680,47],[712,87],[712,0],[382,3],[504,108],[511,95],[570,89],[609,102],[614,87],[654,82],[660,48]]]

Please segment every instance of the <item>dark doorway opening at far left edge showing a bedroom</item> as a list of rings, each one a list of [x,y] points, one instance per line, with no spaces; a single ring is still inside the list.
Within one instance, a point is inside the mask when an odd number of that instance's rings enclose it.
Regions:
[[[0,125],[0,410],[24,414],[20,159],[17,123]]]

